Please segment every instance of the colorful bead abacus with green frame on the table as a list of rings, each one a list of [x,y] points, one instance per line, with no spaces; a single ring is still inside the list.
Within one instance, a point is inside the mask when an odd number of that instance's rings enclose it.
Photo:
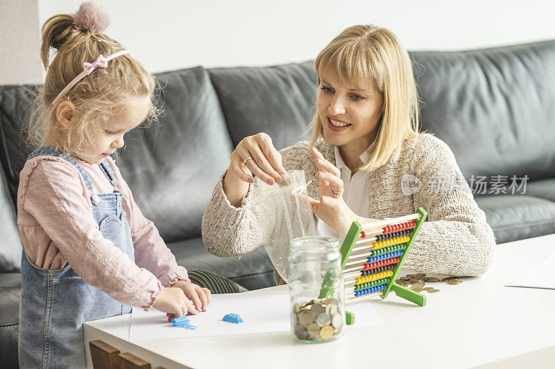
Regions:
[[[395,283],[427,213],[418,213],[361,225],[354,222],[341,246],[345,303],[381,296],[397,296],[426,305],[426,297]]]

